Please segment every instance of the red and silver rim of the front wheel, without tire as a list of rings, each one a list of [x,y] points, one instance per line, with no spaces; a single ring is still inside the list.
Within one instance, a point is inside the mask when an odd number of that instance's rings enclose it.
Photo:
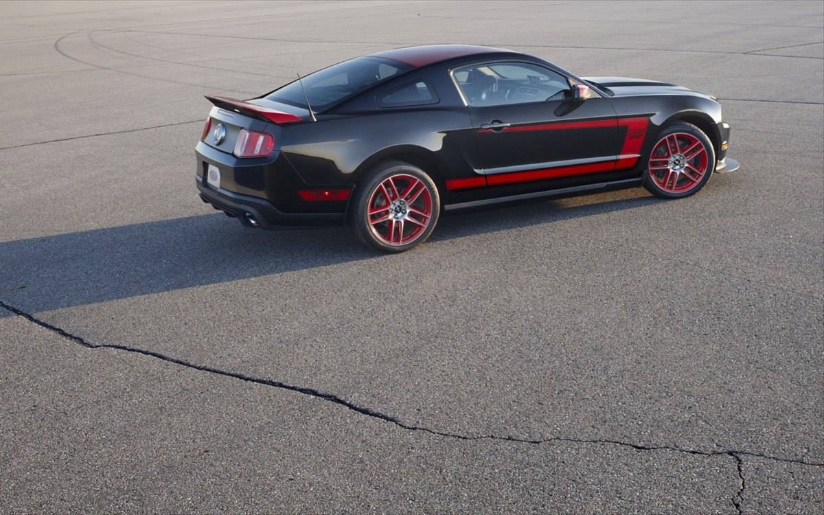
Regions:
[[[692,134],[667,134],[649,157],[650,179],[667,193],[686,193],[698,187],[709,171],[707,156],[704,143]]]

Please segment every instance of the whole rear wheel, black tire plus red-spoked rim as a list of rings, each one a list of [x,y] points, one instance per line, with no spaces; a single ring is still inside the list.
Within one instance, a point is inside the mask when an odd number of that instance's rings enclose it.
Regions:
[[[403,252],[426,241],[441,211],[438,188],[419,167],[382,162],[358,181],[349,224],[358,239],[383,252]]]

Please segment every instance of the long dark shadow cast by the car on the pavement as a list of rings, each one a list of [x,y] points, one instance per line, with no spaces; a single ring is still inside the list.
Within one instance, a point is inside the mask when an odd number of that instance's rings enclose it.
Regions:
[[[657,201],[641,193],[617,196],[598,195],[574,207],[545,201],[454,214],[442,218],[430,241]],[[35,313],[382,257],[391,259],[344,228],[266,232],[212,213],[0,243],[0,301]]]

